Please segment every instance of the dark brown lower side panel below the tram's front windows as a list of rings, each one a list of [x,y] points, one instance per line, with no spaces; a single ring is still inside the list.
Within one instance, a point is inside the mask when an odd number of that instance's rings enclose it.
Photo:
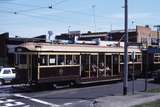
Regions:
[[[69,82],[79,79],[79,66],[39,68],[39,83]]]

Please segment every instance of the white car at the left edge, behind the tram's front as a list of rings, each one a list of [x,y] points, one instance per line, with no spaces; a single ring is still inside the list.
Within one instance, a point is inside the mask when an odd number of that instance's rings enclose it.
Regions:
[[[12,82],[15,76],[15,68],[0,68],[0,85]]]

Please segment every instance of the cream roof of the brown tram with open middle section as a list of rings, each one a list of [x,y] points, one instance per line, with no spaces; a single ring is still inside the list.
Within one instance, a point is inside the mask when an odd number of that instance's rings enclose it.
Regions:
[[[124,52],[124,47],[80,45],[80,44],[51,44],[51,43],[24,43],[17,48],[39,52]],[[128,48],[128,52],[141,52],[139,48]]]

